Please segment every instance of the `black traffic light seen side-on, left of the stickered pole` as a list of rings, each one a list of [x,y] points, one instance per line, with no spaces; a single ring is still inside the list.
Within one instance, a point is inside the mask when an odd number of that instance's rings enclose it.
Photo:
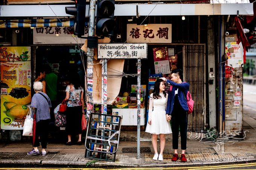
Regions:
[[[72,0],[76,2],[75,7],[65,7],[66,14],[74,15],[76,20],[74,24],[74,35],[81,37],[85,29],[85,5],[86,0]]]

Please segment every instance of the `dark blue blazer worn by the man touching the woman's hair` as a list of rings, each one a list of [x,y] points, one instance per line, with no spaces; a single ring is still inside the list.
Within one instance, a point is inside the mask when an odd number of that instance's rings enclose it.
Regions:
[[[174,100],[175,100],[175,90],[178,90],[178,100],[180,101],[181,107],[188,111],[189,107],[187,106],[187,96],[184,97],[184,93],[187,94],[187,91],[189,90],[189,83],[182,82],[182,83],[175,83],[171,80],[166,80],[166,83],[172,85],[172,90],[168,92],[168,101],[167,101],[167,107],[166,107],[166,114],[172,114],[172,110],[174,107]],[[183,93],[184,92],[184,93]]]

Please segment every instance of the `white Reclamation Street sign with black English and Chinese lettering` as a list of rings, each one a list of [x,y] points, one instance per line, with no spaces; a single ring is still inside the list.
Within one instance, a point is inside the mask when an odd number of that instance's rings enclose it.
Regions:
[[[146,43],[101,43],[98,44],[98,59],[146,59]]]

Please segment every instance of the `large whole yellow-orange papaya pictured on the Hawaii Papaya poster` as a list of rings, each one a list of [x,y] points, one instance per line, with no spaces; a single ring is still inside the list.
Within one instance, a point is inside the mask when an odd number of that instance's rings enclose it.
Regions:
[[[22,104],[17,104],[6,111],[6,116],[9,116],[11,118],[23,118],[27,116],[27,113],[29,111],[29,107]]]

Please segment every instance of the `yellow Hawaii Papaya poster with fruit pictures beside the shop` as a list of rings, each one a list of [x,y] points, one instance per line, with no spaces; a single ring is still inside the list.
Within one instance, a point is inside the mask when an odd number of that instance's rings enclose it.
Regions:
[[[30,47],[0,47],[1,129],[23,129],[31,102]]]

